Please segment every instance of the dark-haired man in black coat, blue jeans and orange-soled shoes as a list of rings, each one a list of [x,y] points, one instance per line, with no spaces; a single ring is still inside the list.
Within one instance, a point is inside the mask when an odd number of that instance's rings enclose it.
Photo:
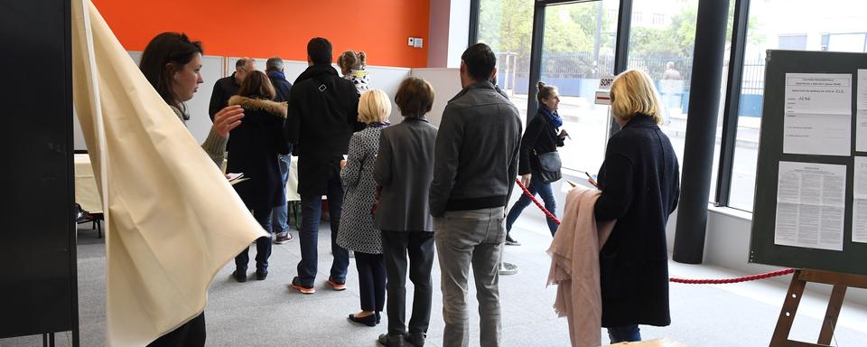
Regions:
[[[334,290],[346,289],[350,258],[337,245],[343,183],[340,160],[347,153],[350,136],[358,127],[359,93],[350,80],[340,78],[331,67],[331,42],[321,37],[307,43],[310,65],[295,80],[289,92],[286,134],[298,155],[298,193],[301,195],[301,261],[292,287],[312,294],[316,279],[317,234],[322,216],[322,195],[328,196],[331,215],[331,276]],[[360,128],[359,128],[360,129]]]

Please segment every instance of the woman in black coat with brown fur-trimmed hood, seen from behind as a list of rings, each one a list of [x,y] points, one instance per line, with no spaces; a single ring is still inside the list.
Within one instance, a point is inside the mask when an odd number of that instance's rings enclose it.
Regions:
[[[253,211],[253,217],[271,233],[271,211],[284,204],[281,192],[283,180],[277,155],[288,155],[283,126],[286,103],[275,102],[275,91],[262,71],[253,71],[244,79],[238,95],[228,99],[229,105],[244,108],[244,122],[232,130],[228,140],[228,173],[244,173],[249,180],[235,184],[235,191]],[[271,238],[256,239],[256,279],[268,276],[268,258],[271,256]],[[238,282],[247,281],[247,249],[235,257]]]

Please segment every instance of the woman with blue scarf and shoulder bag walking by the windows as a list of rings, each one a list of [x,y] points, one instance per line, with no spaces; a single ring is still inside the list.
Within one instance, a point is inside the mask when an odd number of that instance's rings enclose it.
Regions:
[[[527,191],[534,195],[538,193],[542,197],[542,201],[545,202],[545,210],[556,215],[557,201],[554,198],[551,183],[543,181],[542,175],[539,174],[539,155],[556,152],[557,147],[562,147],[566,131],[558,131],[559,127],[563,126],[563,118],[557,113],[557,107],[560,105],[560,94],[557,92],[557,88],[545,85],[544,82],[539,82],[538,87],[539,92],[536,94],[536,98],[539,101],[539,109],[536,111],[536,116],[527,124],[527,130],[521,137],[521,157],[517,161],[517,174],[521,175],[521,183],[527,186]],[[507,245],[521,245],[517,240],[512,239],[509,231],[512,230],[512,224],[521,215],[521,211],[524,211],[530,202],[527,195],[521,194],[512,209],[508,211],[506,216]],[[557,223],[548,218],[545,220],[548,223],[548,230],[554,236],[557,231]]]

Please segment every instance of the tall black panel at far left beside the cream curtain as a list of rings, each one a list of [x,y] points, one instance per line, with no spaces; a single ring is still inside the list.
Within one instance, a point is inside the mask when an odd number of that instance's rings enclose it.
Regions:
[[[78,345],[71,3],[0,2],[0,338],[72,331]]]

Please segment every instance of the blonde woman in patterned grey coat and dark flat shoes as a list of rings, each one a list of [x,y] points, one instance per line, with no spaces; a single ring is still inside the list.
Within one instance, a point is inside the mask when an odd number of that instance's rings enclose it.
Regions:
[[[355,251],[359,270],[361,312],[350,314],[350,321],[376,326],[386,303],[386,265],[382,258],[382,237],[373,222],[371,210],[376,202],[377,183],[373,168],[379,150],[379,135],[388,126],[391,101],[386,93],[372,89],[361,94],[359,121],[363,130],[352,134],[349,154],[341,163],[340,178],[345,184],[343,211],[337,244]]]

